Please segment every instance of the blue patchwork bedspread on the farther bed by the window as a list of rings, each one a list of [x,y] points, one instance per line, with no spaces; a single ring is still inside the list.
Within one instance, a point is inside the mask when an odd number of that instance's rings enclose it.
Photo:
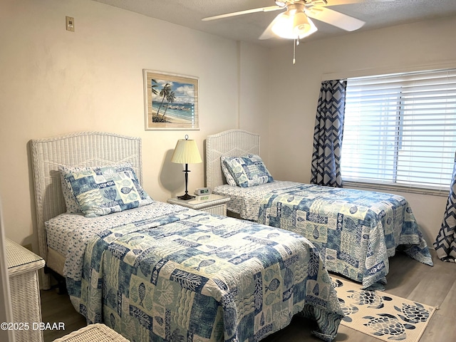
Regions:
[[[398,247],[432,266],[412,209],[398,195],[301,184],[264,196],[258,222],[306,237],[328,271],[365,288],[386,284],[388,257]]]

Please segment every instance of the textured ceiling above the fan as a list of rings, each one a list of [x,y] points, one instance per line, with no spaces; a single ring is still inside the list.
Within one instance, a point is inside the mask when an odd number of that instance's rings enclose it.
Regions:
[[[265,6],[273,6],[274,0],[94,0],[103,4],[133,11],[173,24],[187,26],[217,36],[237,41],[249,41],[263,46],[277,46],[285,39],[271,38],[259,40],[274,17],[281,11],[259,12],[219,19],[201,21],[206,16],[215,16],[234,11],[244,11]],[[328,0],[337,4],[338,0]],[[358,31],[366,31],[386,26],[406,24],[413,21],[456,16],[456,0],[395,0],[372,1],[362,4],[331,6],[333,10],[366,21]],[[318,32],[306,38],[314,40],[347,34],[348,32],[314,20]],[[455,28],[456,31],[456,28]]]

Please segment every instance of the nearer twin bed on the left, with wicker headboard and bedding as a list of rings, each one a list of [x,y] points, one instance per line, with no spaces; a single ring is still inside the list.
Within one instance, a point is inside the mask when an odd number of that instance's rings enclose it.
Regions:
[[[40,254],[65,276],[88,323],[130,341],[259,341],[297,314],[316,322],[323,341],[336,336],[343,312],[315,247],[283,229],[149,201],[139,138],[82,132],[31,140],[31,160]],[[117,177],[125,196],[128,181],[146,202],[115,211],[117,197],[106,191],[109,205],[81,213],[63,191],[70,184],[84,209],[87,184],[105,191]]]

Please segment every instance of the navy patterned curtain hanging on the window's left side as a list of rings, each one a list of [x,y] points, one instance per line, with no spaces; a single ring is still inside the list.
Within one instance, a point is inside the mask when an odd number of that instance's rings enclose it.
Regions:
[[[342,187],[341,149],[346,80],[323,81],[316,108],[311,183]]]

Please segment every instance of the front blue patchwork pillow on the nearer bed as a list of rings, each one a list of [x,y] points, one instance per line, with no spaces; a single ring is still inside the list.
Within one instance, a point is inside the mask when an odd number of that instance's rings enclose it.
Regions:
[[[66,173],[64,179],[86,217],[121,212],[153,202],[128,165],[84,168]]]

